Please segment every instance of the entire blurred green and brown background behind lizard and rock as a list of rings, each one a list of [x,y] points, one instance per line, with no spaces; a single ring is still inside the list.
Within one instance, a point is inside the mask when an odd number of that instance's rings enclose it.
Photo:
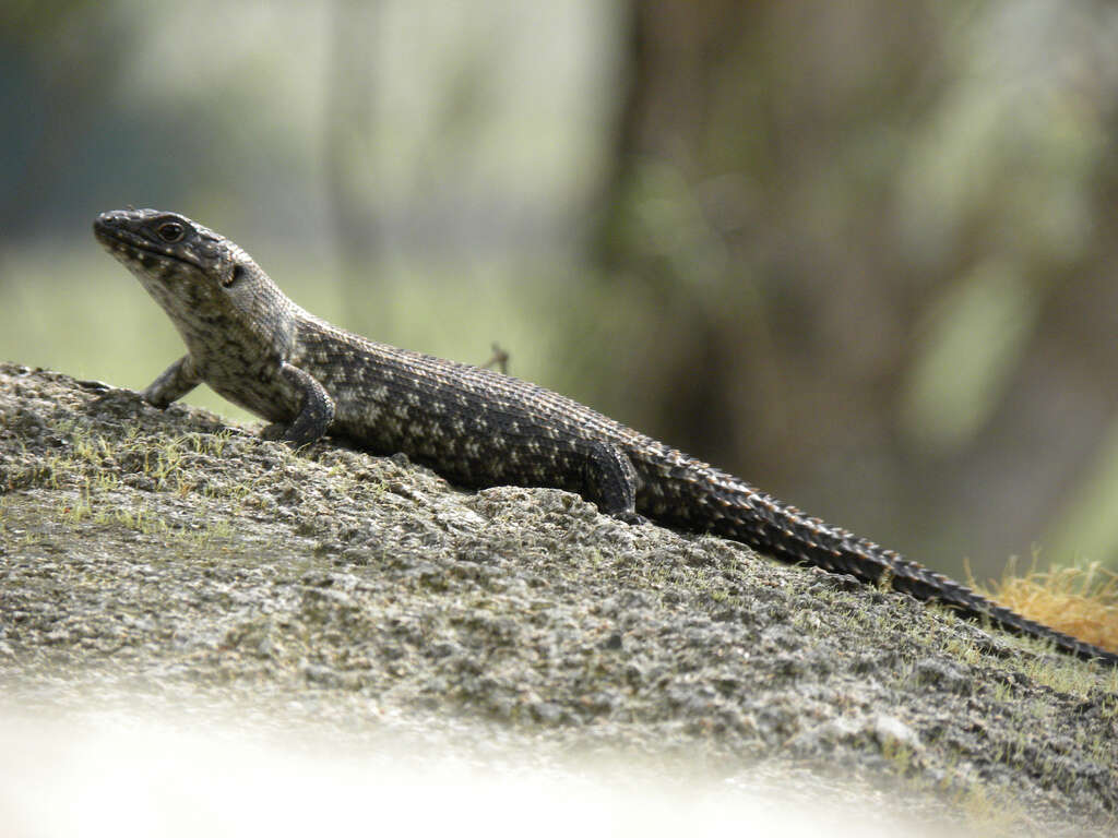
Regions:
[[[937,569],[1118,566],[1115,44],[1087,1],[2,0],[0,358],[149,383],[182,346],[89,225],[171,209]]]

